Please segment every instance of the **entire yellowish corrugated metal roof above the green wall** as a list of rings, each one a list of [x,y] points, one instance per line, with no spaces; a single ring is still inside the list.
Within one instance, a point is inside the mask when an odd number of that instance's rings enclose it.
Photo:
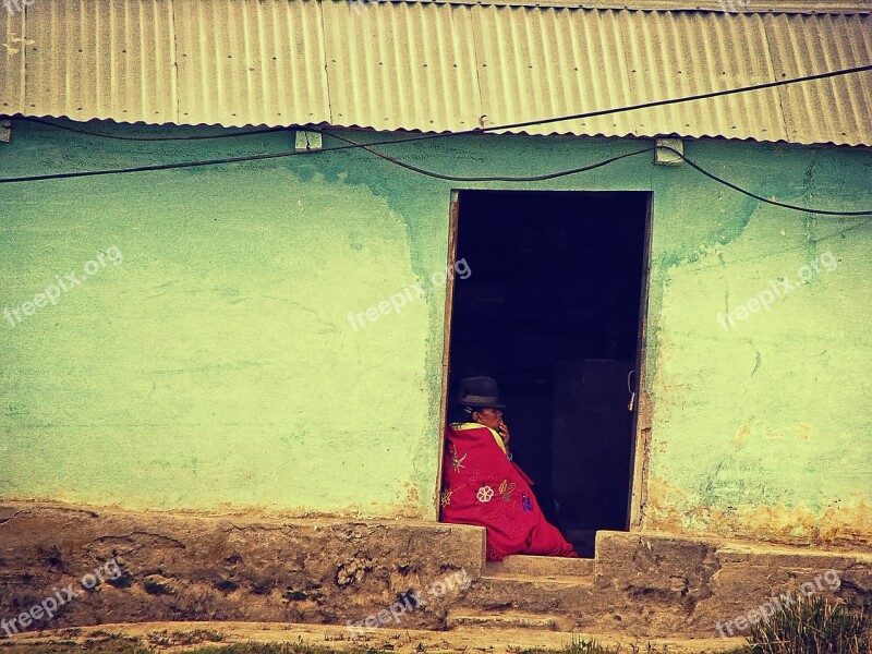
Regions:
[[[0,52],[4,113],[227,126],[462,131],[872,62],[862,13],[38,0],[5,27],[35,43]],[[517,131],[872,145],[870,116],[864,72]]]

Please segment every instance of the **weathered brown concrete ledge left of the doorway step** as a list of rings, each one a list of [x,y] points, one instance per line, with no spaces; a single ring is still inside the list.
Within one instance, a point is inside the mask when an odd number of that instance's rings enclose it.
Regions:
[[[484,530],[475,526],[5,502],[0,618],[55,597],[52,617],[33,619],[27,629],[155,620],[344,625],[457,579],[461,570],[474,579],[484,557]],[[403,615],[403,626],[444,628],[445,606],[457,592],[433,593],[425,606]],[[48,609],[51,603],[41,613]]]

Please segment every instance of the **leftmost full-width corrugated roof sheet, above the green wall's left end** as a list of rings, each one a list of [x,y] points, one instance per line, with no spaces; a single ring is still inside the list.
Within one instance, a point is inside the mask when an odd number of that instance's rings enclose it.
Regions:
[[[168,0],[39,0],[25,16],[33,44],[24,51],[22,113],[149,123],[177,119]]]

